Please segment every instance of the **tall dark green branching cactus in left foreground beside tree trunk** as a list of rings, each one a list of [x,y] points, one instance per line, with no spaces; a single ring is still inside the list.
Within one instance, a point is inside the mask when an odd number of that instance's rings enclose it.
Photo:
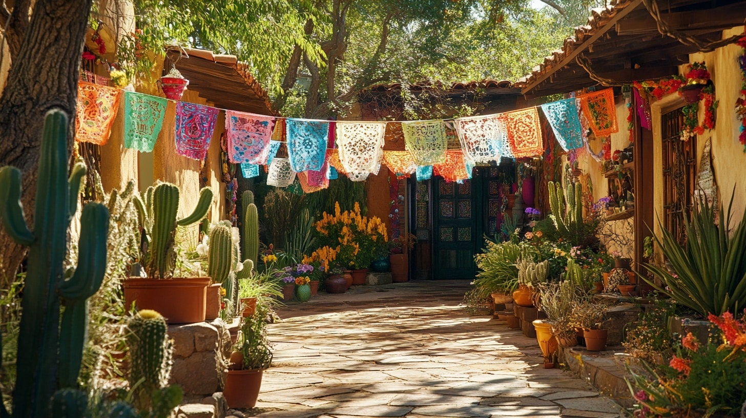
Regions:
[[[81,214],[78,266],[72,274],[63,269],[67,228],[86,174],[86,166],[77,163],[67,176],[67,131],[66,113],[50,110],[40,146],[33,232],[20,202],[21,172],[10,166],[0,169],[3,227],[29,247],[13,417],[49,417],[57,388],[75,386],[86,340],[87,299],[101,287],[106,271],[109,210],[98,203],[87,204]],[[61,321],[60,299],[65,305]]]

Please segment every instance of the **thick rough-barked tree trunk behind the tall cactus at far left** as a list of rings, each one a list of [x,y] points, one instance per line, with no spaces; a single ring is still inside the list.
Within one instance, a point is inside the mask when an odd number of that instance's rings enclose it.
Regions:
[[[22,202],[33,216],[37,161],[44,114],[60,107],[70,116],[68,148],[75,132],[75,103],[84,37],[92,0],[37,0],[13,57],[0,96],[0,166],[23,172]],[[31,219],[29,225],[32,225]],[[25,255],[0,232],[0,280],[10,281]],[[4,286],[3,286],[4,287]]]

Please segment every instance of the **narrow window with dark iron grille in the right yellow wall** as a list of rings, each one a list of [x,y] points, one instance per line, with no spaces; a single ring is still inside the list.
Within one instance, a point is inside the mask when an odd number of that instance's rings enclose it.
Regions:
[[[679,243],[686,241],[684,214],[692,210],[697,166],[697,137],[681,139],[684,115],[681,108],[663,113],[663,225]]]

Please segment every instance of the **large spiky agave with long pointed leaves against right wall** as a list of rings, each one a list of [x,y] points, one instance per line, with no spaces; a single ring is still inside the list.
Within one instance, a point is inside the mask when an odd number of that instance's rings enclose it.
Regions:
[[[735,194],[735,190],[734,194]],[[674,273],[647,265],[662,282],[645,281],[676,302],[703,316],[734,313],[746,301],[746,213],[730,234],[733,195],[727,216],[720,206],[720,225],[715,224],[715,208],[705,199],[695,202],[691,216],[684,216],[686,244],[677,243],[671,231],[662,228],[662,237],[654,237]]]

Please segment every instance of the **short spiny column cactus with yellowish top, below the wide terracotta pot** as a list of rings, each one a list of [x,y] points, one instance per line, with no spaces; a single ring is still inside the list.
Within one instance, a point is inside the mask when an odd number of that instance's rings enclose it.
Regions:
[[[166,340],[167,328],[163,316],[147,309],[138,312],[127,324],[129,382],[139,411],[150,409],[154,391],[169,383],[172,346]]]

